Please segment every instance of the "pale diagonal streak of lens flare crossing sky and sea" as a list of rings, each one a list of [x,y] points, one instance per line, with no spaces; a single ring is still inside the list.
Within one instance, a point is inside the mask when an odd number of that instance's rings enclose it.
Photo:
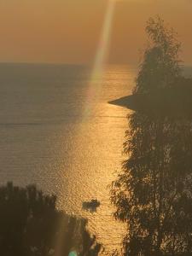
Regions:
[[[108,50],[110,46],[115,2],[116,0],[108,1],[108,8],[103,22],[102,34],[96,51],[96,60],[90,77],[87,101],[85,102],[84,108],[84,119],[87,119],[91,115],[93,103],[96,102],[100,95],[103,70],[108,58]]]

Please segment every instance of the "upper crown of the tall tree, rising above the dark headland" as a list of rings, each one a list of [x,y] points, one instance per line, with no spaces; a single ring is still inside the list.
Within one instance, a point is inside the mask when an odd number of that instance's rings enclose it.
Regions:
[[[149,42],[140,64],[135,92],[147,93],[172,87],[181,77],[176,33],[165,26],[164,20],[150,18],[146,26]]]

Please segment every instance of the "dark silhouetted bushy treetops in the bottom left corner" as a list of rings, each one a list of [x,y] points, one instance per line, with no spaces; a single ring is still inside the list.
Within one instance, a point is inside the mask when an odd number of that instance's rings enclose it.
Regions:
[[[98,255],[102,246],[90,236],[84,218],[59,212],[55,195],[35,186],[0,187],[0,252],[3,256]]]

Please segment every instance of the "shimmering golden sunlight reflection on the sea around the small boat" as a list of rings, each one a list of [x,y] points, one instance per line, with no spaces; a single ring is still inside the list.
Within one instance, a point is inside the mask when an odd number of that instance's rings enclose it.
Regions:
[[[110,204],[110,184],[121,168],[122,144],[127,128],[128,110],[108,104],[108,101],[131,93],[134,71],[121,67],[107,69],[101,94],[91,102],[89,119],[80,122],[74,130],[70,148],[70,172],[63,194],[67,201],[60,207],[89,219],[89,229],[96,234],[106,251],[119,247],[125,227],[113,219]],[[125,84],[124,84],[125,83]],[[113,90],[113,95],[108,91]],[[116,171],[116,172],[115,172]],[[83,201],[97,199],[101,207],[90,213],[82,209]]]

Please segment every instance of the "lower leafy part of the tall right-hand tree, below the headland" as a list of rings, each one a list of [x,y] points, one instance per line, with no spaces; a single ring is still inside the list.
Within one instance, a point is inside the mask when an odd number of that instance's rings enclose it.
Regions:
[[[125,255],[192,253],[191,120],[134,113],[130,125],[112,193],[128,225]]]

